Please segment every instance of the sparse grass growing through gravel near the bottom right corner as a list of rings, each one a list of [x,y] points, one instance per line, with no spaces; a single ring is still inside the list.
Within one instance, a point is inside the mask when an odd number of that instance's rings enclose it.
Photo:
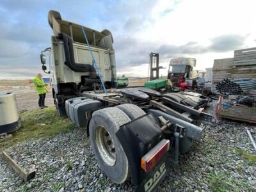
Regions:
[[[211,191],[252,191],[252,186],[246,180],[233,179],[229,172],[209,172],[207,180]]]

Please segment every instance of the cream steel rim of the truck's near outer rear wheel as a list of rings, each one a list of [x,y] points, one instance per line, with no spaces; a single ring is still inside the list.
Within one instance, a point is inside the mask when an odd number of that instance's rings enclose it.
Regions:
[[[115,145],[109,132],[103,126],[96,127],[95,141],[104,163],[114,166],[116,163]]]

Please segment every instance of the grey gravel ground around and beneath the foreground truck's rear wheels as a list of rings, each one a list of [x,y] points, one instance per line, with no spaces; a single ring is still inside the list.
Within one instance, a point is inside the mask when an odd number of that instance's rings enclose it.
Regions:
[[[216,102],[207,108],[214,116]],[[205,127],[195,143],[170,166],[157,191],[256,191],[256,166],[237,148],[253,154],[244,127],[250,124],[218,120]],[[35,166],[36,177],[24,182],[0,157],[0,191],[133,191],[131,182],[114,184],[100,170],[86,131],[77,128],[53,138],[25,141],[6,150],[22,167]]]

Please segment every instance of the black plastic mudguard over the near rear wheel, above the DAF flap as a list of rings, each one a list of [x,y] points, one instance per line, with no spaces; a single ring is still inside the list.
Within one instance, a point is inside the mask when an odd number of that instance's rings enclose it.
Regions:
[[[162,131],[150,113],[124,124],[116,132],[131,166],[132,184],[141,186],[150,173],[141,168],[141,157],[163,139]],[[157,167],[158,164],[156,164]],[[162,168],[163,169],[163,168]],[[154,169],[153,169],[154,170]],[[154,172],[154,171],[153,171]]]

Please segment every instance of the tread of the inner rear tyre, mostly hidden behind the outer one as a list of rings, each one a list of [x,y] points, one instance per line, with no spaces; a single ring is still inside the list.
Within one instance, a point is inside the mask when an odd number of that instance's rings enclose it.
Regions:
[[[120,106],[116,106],[116,108],[124,111],[124,113],[128,115],[131,120],[146,114],[141,108],[134,104],[122,104]]]

